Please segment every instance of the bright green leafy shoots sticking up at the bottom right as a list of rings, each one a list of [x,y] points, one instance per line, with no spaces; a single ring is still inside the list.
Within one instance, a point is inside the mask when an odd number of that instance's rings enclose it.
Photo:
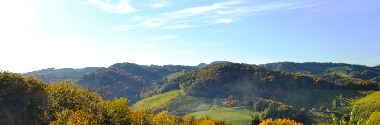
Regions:
[[[358,109],[358,105],[355,105],[352,110],[351,110],[351,113],[350,113],[350,120],[349,121],[346,121],[344,118],[340,119],[340,121],[338,121],[336,119],[336,116],[334,113],[331,113],[331,117],[332,117],[332,120],[334,121],[334,125],[370,125],[371,124],[371,120],[369,119],[367,121],[366,124],[362,124],[364,122],[364,119],[363,118],[360,118],[359,121],[357,123],[355,123],[355,116],[356,116],[356,110]]]

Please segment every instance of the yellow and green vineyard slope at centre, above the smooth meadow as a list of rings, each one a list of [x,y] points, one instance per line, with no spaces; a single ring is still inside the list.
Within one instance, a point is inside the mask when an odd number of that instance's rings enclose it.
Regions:
[[[136,103],[144,104],[152,108],[168,108],[170,110],[203,111],[210,108],[212,100],[205,98],[189,97],[178,90],[155,95]]]

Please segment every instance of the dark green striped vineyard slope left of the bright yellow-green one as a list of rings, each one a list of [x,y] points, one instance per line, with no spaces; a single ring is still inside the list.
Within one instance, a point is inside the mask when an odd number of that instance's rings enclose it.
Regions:
[[[357,91],[357,90],[304,90],[304,91],[285,91],[283,93],[283,103],[291,105],[294,108],[306,108],[310,110],[313,107],[323,106],[331,108],[331,103],[335,99],[339,107],[339,95],[342,94],[343,102],[351,104],[360,98],[365,97],[375,91]]]

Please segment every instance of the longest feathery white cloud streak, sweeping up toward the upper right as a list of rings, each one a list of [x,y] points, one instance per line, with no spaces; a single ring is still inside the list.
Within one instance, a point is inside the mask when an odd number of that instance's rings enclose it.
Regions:
[[[153,8],[166,6],[167,2],[150,4]],[[179,11],[163,12],[155,16],[132,17],[130,28],[189,28],[205,25],[232,23],[252,14],[272,14],[276,11],[287,11],[298,8],[311,8],[322,5],[323,2],[278,1],[252,2],[233,0],[218,2],[212,5],[185,8]],[[125,28],[125,27],[124,27]],[[122,31],[122,30],[119,30]],[[125,30],[124,30],[125,31]]]

